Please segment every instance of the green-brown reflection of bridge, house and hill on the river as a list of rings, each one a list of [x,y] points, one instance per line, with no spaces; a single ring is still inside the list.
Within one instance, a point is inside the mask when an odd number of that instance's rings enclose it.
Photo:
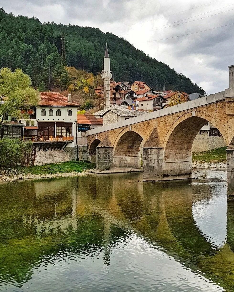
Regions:
[[[212,179],[143,183],[141,174],[2,184],[1,282],[21,286],[63,253],[99,255],[108,267],[114,246],[135,234],[232,291],[234,198],[226,187]]]

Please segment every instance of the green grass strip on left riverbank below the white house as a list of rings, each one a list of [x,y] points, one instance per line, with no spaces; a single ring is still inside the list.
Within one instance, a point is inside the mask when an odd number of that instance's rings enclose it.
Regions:
[[[69,172],[82,172],[87,169],[95,168],[96,165],[84,161],[67,161],[61,163],[51,163],[39,166],[30,166],[17,168],[18,173],[31,173],[31,174],[55,174],[55,173],[69,173]]]

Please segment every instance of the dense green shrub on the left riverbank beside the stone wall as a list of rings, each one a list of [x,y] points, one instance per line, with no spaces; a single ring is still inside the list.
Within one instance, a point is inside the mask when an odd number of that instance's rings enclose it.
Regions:
[[[26,166],[30,162],[32,142],[20,139],[3,138],[0,140],[0,166]]]

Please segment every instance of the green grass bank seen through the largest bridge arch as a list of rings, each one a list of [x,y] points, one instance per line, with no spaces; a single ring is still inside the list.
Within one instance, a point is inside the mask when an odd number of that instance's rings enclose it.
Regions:
[[[192,154],[192,161],[199,163],[220,163],[226,162],[226,149],[227,147],[221,147],[206,152],[194,152]]]

